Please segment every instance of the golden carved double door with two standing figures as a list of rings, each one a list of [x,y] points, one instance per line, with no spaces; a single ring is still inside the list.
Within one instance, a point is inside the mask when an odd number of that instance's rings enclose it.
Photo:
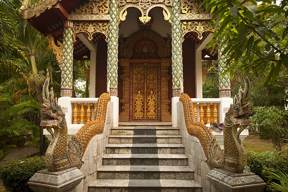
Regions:
[[[133,66],[131,70],[131,121],[158,121],[159,77],[158,66]]]

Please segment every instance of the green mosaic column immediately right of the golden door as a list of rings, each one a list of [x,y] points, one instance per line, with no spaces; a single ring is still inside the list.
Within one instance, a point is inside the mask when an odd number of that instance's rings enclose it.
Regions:
[[[172,7],[172,92],[173,97],[183,93],[181,1],[173,0]]]

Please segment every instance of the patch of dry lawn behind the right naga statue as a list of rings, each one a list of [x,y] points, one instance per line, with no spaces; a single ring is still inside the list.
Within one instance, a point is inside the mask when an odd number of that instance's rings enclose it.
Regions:
[[[245,151],[274,151],[276,152],[276,149],[273,148],[272,141],[265,141],[263,139],[259,139],[257,136],[249,135],[247,136],[243,141],[242,144],[245,148]],[[288,145],[282,146],[282,151],[287,152],[285,149],[288,147]]]

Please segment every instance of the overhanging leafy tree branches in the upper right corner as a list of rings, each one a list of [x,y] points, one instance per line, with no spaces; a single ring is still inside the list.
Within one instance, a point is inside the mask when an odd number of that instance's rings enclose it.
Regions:
[[[264,86],[271,84],[273,90],[278,88],[287,94],[283,87],[288,85],[281,82],[288,78],[281,75],[281,70],[288,69],[287,1],[282,0],[281,5],[275,2],[265,0],[257,5],[255,0],[204,0],[206,11],[213,13],[215,29],[215,39],[207,47],[223,49],[222,56],[227,59],[225,73],[231,72],[230,77],[238,71],[244,77],[251,72],[256,76],[263,73]]]

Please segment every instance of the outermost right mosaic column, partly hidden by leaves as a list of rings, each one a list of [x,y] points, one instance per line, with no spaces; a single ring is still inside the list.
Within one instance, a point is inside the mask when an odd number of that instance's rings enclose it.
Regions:
[[[223,66],[226,64],[225,55],[221,56],[225,46],[218,49],[218,60],[219,60],[219,98],[223,97],[231,97],[231,89],[230,89],[230,77],[227,73],[225,76],[222,76]]]

